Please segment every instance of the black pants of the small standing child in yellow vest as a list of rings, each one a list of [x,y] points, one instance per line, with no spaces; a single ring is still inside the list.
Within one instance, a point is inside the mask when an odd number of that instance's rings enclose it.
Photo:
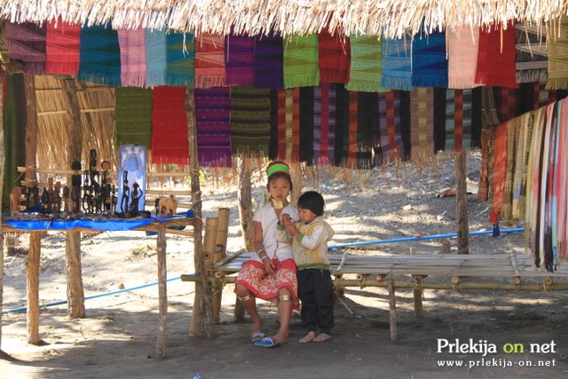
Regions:
[[[331,335],[334,326],[334,289],[329,270],[298,270],[298,297],[302,301],[302,324],[309,332]]]

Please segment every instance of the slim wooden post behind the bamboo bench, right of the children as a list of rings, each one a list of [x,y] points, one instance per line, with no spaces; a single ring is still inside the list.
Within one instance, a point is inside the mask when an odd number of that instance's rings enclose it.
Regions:
[[[465,153],[455,156],[456,217],[458,219],[458,254],[469,254],[468,188]]]

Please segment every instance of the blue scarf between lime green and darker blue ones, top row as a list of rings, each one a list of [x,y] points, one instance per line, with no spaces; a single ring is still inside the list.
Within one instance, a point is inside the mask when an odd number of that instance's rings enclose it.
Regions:
[[[409,36],[383,39],[383,77],[381,85],[400,91],[412,91],[412,43]]]

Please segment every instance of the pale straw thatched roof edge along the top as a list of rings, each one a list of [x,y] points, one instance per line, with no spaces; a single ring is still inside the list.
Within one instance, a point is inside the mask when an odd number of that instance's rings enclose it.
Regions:
[[[568,10],[565,0],[4,0],[0,18],[43,22],[61,16],[114,28],[171,28],[201,35],[268,31],[388,38],[426,30],[485,27],[509,20],[549,23]]]

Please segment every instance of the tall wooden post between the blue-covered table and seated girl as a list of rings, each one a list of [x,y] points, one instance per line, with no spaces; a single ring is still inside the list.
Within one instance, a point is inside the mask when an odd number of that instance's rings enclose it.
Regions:
[[[201,188],[199,183],[199,162],[197,159],[197,130],[195,125],[195,101],[193,90],[185,90],[185,116],[187,117],[187,136],[189,138],[190,178],[192,182],[192,207],[195,217],[201,219]],[[213,318],[211,312],[212,288],[208,280],[203,259],[201,223],[194,226],[193,265],[201,280],[195,282],[192,321],[189,335],[195,337],[213,337]]]

